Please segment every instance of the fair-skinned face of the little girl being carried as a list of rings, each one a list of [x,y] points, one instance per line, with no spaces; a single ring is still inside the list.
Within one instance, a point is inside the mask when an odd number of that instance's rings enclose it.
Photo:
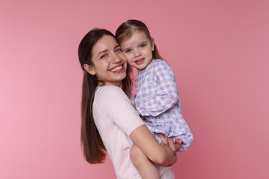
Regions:
[[[144,32],[137,31],[132,34],[130,39],[121,43],[121,49],[126,55],[128,63],[140,72],[152,61],[154,41],[148,39]]]

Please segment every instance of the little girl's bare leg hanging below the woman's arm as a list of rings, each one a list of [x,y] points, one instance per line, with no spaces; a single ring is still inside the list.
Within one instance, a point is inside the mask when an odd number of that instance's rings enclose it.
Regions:
[[[160,178],[159,171],[155,165],[148,159],[145,154],[143,154],[143,152],[139,149],[139,147],[137,147],[137,145],[135,145],[135,143],[132,145],[132,149],[130,150],[130,159],[143,179]]]

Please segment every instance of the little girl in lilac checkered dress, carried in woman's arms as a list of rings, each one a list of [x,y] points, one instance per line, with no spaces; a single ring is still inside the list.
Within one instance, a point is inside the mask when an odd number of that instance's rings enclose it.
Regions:
[[[116,39],[128,63],[139,72],[135,96],[137,112],[143,116],[144,123],[159,143],[159,134],[166,138],[180,138],[183,144],[178,151],[186,151],[193,136],[181,114],[175,75],[161,59],[147,26],[141,21],[128,20],[117,29]],[[130,157],[142,178],[157,176],[155,166],[135,144]]]

